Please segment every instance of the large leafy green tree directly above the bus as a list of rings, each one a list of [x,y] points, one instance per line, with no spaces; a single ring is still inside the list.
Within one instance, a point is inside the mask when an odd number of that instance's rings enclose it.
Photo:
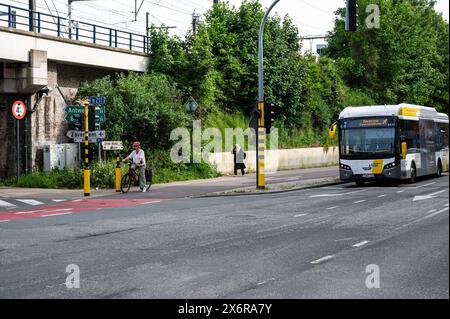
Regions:
[[[365,24],[366,6],[380,8],[380,28]],[[448,23],[430,0],[360,0],[358,31],[344,31],[336,12],[327,55],[345,82],[379,104],[402,102],[448,109]]]

